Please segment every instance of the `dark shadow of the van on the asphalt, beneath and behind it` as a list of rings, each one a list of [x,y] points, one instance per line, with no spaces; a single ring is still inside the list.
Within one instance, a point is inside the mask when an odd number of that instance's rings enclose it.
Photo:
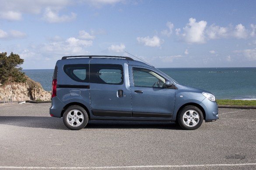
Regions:
[[[0,116],[0,124],[69,130],[62,119],[43,116]],[[173,129],[181,130],[177,123],[152,122],[152,121],[113,121],[113,120],[91,120],[85,129]]]

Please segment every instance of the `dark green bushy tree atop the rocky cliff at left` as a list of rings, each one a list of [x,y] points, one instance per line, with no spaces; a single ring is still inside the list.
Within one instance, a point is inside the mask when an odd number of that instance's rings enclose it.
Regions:
[[[5,84],[8,80],[11,82],[26,82],[26,77],[22,68],[24,59],[21,59],[18,54],[10,53],[7,56],[7,52],[0,53],[0,83]]]

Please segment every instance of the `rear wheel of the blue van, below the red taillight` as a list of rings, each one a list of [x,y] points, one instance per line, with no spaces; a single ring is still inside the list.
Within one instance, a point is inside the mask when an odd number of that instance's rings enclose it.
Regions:
[[[69,106],[63,114],[63,122],[71,130],[83,129],[87,125],[88,120],[86,110],[79,105]]]

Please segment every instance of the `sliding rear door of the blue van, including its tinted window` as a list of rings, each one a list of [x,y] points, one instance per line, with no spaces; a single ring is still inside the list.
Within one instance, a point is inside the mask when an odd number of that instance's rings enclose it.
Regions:
[[[131,90],[125,60],[90,61],[90,102],[94,116],[131,117]]]

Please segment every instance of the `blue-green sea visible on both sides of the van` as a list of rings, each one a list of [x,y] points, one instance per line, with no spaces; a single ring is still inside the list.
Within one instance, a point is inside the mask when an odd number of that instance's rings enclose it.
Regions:
[[[216,99],[256,100],[256,67],[158,68],[181,85],[212,92]],[[23,70],[46,91],[52,90],[53,69]]]

